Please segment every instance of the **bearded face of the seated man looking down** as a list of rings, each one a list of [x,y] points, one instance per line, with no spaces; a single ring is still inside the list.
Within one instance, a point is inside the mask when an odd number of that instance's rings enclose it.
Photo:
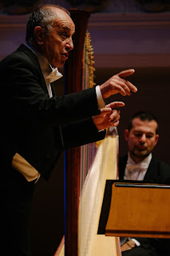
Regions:
[[[152,120],[141,121],[134,118],[132,129],[125,130],[125,140],[128,142],[130,156],[135,162],[146,158],[152,152],[158,141],[159,135],[156,134],[157,123]]]

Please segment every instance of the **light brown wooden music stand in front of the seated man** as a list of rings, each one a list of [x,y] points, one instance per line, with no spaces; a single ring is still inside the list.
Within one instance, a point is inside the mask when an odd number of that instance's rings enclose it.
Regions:
[[[170,186],[114,182],[108,236],[170,238]]]

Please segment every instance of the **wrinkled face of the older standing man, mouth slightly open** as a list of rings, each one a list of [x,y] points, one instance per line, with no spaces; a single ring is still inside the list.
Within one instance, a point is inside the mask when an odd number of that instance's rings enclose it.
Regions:
[[[64,10],[57,10],[57,18],[49,29],[49,35],[44,34],[42,54],[49,60],[53,67],[63,66],[73,50],[72,36],[75,26],[72,19]]]

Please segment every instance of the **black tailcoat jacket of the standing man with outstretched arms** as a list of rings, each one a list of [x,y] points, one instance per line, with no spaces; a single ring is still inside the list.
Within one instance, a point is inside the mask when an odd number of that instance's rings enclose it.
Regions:
[[[5,164],[21,154],[48,179],[61,150],[105,137],[91,118],[100,113],[95,88],[49,98],[38,58],[27,46],[0,62],[0,81]]]

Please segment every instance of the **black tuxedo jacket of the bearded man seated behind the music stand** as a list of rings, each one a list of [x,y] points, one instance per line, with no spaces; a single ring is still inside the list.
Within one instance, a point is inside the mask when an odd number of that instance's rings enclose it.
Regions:
[[[119,159],[120,180],[124,179],[125,167],[126,167],[127,161],[128,161],[128,155],[125,155]],[[142,182],[170,184],[170,166],[168,166],[168,164],[166,164],[165,162],[160,161],[160,159],[156,158],[156,156],[152,154],[151,162],[148,166],[148,170]],[[156,253],[158,253],[159,256],[164,255],[164,253],[170,253],[169,239],[136,238],[136,240],[139,241],[140,245],[145,250],[148,250],[148,252],[151,254],[152,254],[152,250],[156,250]],[[129,255],[130,255],[130,251],[129,251]]]

